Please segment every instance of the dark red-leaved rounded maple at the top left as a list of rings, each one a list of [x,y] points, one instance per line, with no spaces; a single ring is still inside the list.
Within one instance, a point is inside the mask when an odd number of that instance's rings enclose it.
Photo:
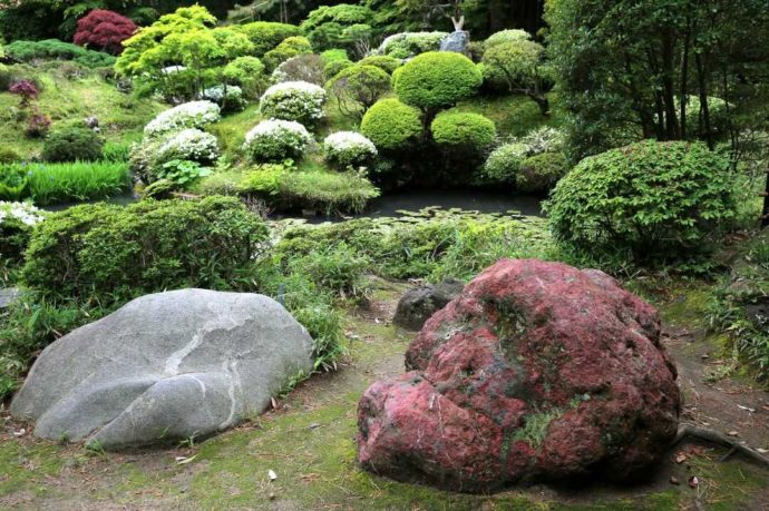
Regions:
[[[74,42],[113,55],[123,52],[123,41],[136,32],[136,23],[117,12],[95,9],[77,22]]]

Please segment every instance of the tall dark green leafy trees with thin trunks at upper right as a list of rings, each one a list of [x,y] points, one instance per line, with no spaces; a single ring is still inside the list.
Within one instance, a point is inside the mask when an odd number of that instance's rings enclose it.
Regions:
[[[709,97],[737,102],[729,140],[737,146],[739,134],[760,122],[750,105],[765,94],[769,48],[756,35],[769,29],[766,7],[763,0],[547,2],[573,158],[640,138],[700,137],[712,148]],[[687,95],[700,98],[698,110],[681,101]]]

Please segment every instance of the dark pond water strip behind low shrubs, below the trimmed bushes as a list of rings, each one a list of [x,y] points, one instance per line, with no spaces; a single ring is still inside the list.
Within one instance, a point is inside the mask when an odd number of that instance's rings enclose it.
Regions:
[[[126,206],[134,203],[136,197],[127,191],[105,200],[108,204]],[[77,203],[84,204],[84,203]],[[76,204],[57,204],[45,209],[60,212]],[[515,195],[488,190],[413,190],[389,194],[371,200],[366,212],[345,218],[380,218],[398,217],[399,212],[419,212],[426,207],[439,206],[442,209],[463,209],[478,213],[512,213],[526,216],[542,216],[542,199],[525,195]],[[327,217],[324,215],[302,216],[300,214],[274,215],[275,218],[305,218],[308,222],[340,222],[344,218]]]

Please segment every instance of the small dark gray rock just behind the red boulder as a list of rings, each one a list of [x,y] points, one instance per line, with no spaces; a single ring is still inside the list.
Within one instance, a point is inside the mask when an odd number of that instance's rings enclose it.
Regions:
[[[464,282],[447,278],[435,286],[409,289],[398,302],[392,323],[405,328],[419,330],[435,313],[459,296],[463,288]]]

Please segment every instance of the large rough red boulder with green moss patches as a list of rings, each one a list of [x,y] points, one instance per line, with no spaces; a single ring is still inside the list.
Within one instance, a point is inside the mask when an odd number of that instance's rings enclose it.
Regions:
[[[675,436],[675,367],[656,311],[606,274],[500,261],[436,313],[408,373],[358,409],[358,462],[458,491],[624,479]]]

